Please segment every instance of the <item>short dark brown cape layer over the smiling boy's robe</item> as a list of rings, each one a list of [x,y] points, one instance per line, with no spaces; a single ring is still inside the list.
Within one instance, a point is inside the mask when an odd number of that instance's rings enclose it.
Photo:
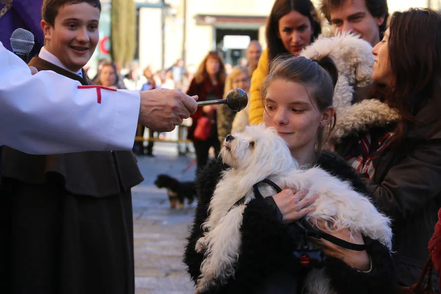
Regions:
[[[65,75],[78,80],[82,85],[91,84],[89,80],[39,57],[32,58],[29,65],[39,71],[51,70]],[[83,76],[86,76],[84,72]],[[3,177],[40,185],[52,173],[63,177],[64,186],[70,193],[95,197],[116,195],[143,181],[131,151],[89,151],[45,156],[5,147]]]

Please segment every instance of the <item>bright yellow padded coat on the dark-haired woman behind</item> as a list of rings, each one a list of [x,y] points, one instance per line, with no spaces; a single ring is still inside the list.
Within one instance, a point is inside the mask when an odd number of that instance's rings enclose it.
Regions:
[[[249,97],[249,123],[258,124],[263,122],[264,107],[261,100],[261,84],[268,75],[268,49],[260,56],[257,68],[251,78]]]

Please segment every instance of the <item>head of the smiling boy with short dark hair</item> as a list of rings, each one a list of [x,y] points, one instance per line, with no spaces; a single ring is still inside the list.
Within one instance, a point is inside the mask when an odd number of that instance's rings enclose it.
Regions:
[[[86,2],[60,7],[54,26],[41,21],[45,48],[69,70],[80,70],[97,47],[99,14],[97,7]]]

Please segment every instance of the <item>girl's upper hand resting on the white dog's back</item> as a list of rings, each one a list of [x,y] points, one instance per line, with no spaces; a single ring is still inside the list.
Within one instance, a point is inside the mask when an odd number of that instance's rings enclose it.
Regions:
[[[318,198],[318,194],[313,194],[307,198],[308,190],[295,192],[294,189],[285,189],[282,192],[272,196],[274,202],[278,206],[283,215],[283,222],[290,223],[297,221],[308,213],[316,210],[315,206],[311,206]]]

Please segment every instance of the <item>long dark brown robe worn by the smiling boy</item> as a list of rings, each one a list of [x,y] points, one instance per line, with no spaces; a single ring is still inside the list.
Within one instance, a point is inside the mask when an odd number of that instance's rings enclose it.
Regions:
[[[38,57],[29,65],[91,84]],[[6,147],[1,174],[0,293],[134,293],[130,188],[143,177],[131,151]]]

